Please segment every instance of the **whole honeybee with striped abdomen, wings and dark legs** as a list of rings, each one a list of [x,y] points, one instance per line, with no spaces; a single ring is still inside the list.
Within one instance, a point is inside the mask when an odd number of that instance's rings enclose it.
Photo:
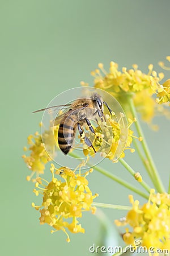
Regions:
[[[59,125],[58,145],[65,155],[69,153],[71,147],[73,146],[77,129],[79,131],[80,138],[84,140],[88,147],[92,147],[96,153],[92,142],[84,133],[83,125],[86,124],[91,133],[95,135],[95,130],[92,127],[89,118],[97,123],[99,119],[101,119],[101,121],[105,121],[104,105],[107,106],[109,112],[112,114],[112,110],[109,108],[108,104],[103,101],[103,98],[97,93],[93,93],[90,98],[79,98],[72,104],[59,105],[65,106],[67,109],[63,114],[59,115],[53,120],[51,126]],[[57,107],[58,106],[52,106],[46,109],[36,110],[33,113]]]

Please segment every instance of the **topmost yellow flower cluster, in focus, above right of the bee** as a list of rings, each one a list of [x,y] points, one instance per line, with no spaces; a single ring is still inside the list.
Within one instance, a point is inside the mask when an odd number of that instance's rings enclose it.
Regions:
[[[101,75],[99,69],[91,72],[91,75],[95,76],[95,87],[121,94],[122,92],[137,93],[151,89],[151,85],[156,86],[164,77],[163,73],[156,75],[152,64],[148,66],[147,74],[142,73],[137,64],[133,65],[133,69],[122,68],[122,72],[118,71],[118,64],[113,61],[110,63],[109,73],[105,71],[102,63],[99,63],[99,68],[105,76]]]

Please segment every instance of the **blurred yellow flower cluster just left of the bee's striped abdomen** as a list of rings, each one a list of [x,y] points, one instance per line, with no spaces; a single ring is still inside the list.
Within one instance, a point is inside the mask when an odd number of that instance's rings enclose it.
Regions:
[[[24,151],[31,152],[29,156],[22,156],[29,170],[32,171],[32,174],[27,176],[28,181],[31,180],[35,173],[37,176],[39,176],[39,174],[44,174],[45,164],[52,160],[45,150],[44,143],[46,144],[46,147],[49,147],[50,150],[54,152],[57,147],[56,140],[54,139],[55,136],[57,136],[57,133],[58,126],[53,127],[53,129],[50,128],[49,130],[44,131],[42,136],[38,131],[34,135],[31,134],[28,136],[27,143],[30,146],[29,148],[24,147]]]

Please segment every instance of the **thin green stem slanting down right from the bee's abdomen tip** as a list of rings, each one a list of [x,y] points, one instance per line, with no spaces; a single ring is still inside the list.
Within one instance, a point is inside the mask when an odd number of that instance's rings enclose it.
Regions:
[[[74,158],[77,159],[81,159],[80,156],[76,155],[75,153],[71,152],[70,153],[71,156],[73,156]],[[92,167],[94,170],[100,172],[101,174],[109,177],[110,179],[116,181],[117,183],[123,185],[124,187],[130,189],[131,191],[137,193],[138,195],[144,197],[145,199],[148,199],[148,195],[142,191],[140,191],[139,189],[135,188],[133,185],[129,184],[128,182],[126,182],[125,180],[120,179],[119,177],[117,177],[114,174],[111,174],[111,172],[108,172],[106,170],[104,170],[103,168],[99,167],[99,166],[94,166],[92,163],[87,162],[87,165]]]

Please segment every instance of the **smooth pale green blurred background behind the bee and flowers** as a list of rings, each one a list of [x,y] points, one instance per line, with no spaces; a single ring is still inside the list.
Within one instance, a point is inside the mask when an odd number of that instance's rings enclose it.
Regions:
[[[42,117],[42,113],[31,112],[82,80],[92,85],[90,71],[99,62],[106,69],[111,60],[120,68],[137,63],[144,72],[152,63],[160,72],[158,61],[170,54],[169,9],[169,0],[0,1],[1,255],[91,255],[88,248],[100,233],[95,216],[84,213],[81,222],[86,233],[71,234],[68,244],[65,234],[52,235],[49,226],[41,226],[39,212],[31,207],[31,202],[39,199],[32,193],[33,184],[25,180],[29,170],[21,156],[27,136],[39,130]],[[160,125],[158,133],[144,128],[167,187],[169,122],[163,117],[154,121]],[[135,153],[127,159],[143,174]],[[131,180],[120,164],[107,160],[102,164]],[[90,187],[100,194],[97,201],[129,205],[128,189],[95,171]],[[138,195],[135,198],[140,199]],[[103,212],[112,223],[125,215],[118,210]]]

